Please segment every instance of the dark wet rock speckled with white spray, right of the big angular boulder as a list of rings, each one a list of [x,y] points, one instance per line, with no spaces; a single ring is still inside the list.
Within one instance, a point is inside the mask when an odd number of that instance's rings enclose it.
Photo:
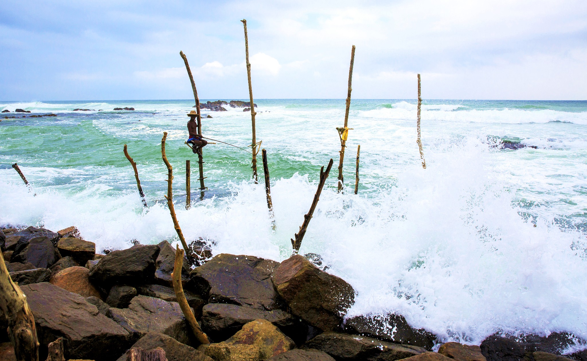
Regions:
[[[411,327],[406,318],[398,314],[351,317],[345,322],[345,332],[420,346],[427,350],[433,348],[436,340],[433,333]]]

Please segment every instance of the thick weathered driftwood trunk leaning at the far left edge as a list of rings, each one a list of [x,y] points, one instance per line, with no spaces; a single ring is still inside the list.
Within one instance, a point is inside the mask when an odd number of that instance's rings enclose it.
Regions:
[[[0,252],[0,311],[8,319],[8,335],[16,361],[39,361],[35,318],[21,288],[12,282]]]

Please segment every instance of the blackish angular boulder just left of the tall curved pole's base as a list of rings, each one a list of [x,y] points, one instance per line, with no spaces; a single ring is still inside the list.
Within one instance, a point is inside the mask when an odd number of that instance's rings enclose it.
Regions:
[[[158,255],[159,246],[156,244],[137,244],[126,250],[112,251],[90,270],[90,280],[106,289],[114,284],[151,283]]]

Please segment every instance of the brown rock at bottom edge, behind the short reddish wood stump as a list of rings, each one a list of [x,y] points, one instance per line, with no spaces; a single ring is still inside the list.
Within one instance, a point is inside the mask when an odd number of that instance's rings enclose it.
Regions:
[[[165,351],[167,361],[212,361],[212,359],[200,351],[183,343],[177,342],[163,333],[149,332],[132,347],[138,347],[143,350],[152,350],[158,347]],[[117,361],[127,361],[128,354],[120,356]]]

